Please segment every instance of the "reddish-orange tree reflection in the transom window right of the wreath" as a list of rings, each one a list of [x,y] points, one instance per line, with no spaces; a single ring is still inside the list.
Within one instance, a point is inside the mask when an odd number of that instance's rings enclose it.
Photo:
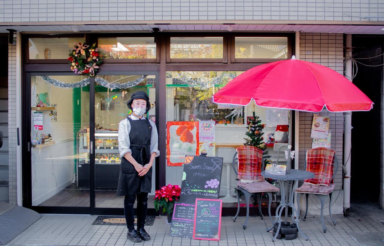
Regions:
[[[107,58],[112,59],[147,59],[156,58],[152,50],[148,49],[146,45],[123,45],[127,51],[116,51],[116,45],[99,45],[99,49],[106,54]]]

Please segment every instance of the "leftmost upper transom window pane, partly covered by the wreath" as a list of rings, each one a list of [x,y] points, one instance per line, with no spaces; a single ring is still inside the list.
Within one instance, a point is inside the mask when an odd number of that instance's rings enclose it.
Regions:
[[[84,38],[29,38],[29,59],[67,59],[74,43]]]

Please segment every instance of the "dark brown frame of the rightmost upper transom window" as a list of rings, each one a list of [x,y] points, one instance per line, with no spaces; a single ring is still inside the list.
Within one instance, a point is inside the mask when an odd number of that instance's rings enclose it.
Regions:
[[[294,33],[232,33],[231,39],[231,62],[232,63],[270,63],[274,61],[283,61],[284,58],[270,59],[270,58],[235,58],[235,37],[276,37],[276,38],[287,38],[287,58],[291,59],[292,48],[291,45],[295,43]]]

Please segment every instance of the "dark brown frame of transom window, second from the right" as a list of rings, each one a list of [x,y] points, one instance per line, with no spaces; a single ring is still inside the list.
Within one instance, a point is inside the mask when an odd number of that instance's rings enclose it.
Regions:
[[[223,58],[170,58],[170,38],[171,37],[222,37],[223,38]],[[227,33],[169,33],[166,36],[166,63],[227,63]]]

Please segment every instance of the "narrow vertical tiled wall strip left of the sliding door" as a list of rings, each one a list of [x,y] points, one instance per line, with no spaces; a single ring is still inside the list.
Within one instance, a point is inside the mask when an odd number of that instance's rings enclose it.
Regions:
[[[17,204],[16,45],[8,46],[8,135],[9,203]]]

